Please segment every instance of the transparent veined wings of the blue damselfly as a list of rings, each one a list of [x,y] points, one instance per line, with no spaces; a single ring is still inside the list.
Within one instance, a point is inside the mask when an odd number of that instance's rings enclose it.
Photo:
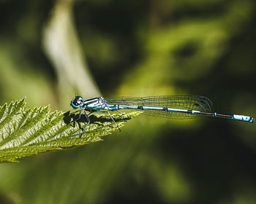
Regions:
[[[172,109],[194,110],[201,112],[211,111],[211,101],[200,95],[161,95],[148,97],[115,97],[105,98],[108,104],[126,105],[126,106],[151,106]],[[198,115],[187,114],[175,111],[153,111],[145,110],[144,114],[154,117],[167,117],[176,119],[186,119],[198,117]]]

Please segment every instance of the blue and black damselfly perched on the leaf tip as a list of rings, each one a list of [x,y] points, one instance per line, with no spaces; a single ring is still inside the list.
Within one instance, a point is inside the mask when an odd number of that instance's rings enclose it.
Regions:
[[[77,119],[80,119],[82,112],[85,114],[88,123],[90,124],[89,114],[107,113],[113,122],[116,124],[109,111],[118,111],[121,114],[121,109],[136,109],[143,111],[154,117],[166,117],[173,119],[186,119],[199,116],[223,117],[236,119],[244,122],[254,122],[253,117],[238,115],[238,114],[217,114],[211,112],[211,101],[199,95],[162,95],[149,97],[115,97],[115,98],[91,98],[83,100],[81,96],[75,96],[71,101],[70,106],[74,109],[80,108],[80,113]],[[89,111],[89,114],[86,114]],[[83,129],[83,133],[86,130]],[[118,125],[116,124],[116,127]],[[119,127],[118,127],[119,129]],[[120,129],[119,129],[120,130]],[[80,137],[83,135],[80,135]]]

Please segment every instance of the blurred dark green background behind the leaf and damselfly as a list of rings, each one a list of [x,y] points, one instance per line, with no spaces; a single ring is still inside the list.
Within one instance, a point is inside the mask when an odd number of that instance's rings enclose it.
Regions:
[[[0,102],[205,95],[256,116],[254,0],[0,1]],[[0,164],[0,203],[256,203],[256,127],[140,115],[105,141]]]

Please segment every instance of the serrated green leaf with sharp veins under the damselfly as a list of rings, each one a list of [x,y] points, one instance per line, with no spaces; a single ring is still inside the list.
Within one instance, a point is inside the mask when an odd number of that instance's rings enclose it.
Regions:
[[[117,127],[106,114],[90,116],[91,123],[86,126],[86,117],[79,122],[71,122],[78,114],[61,111],[50,112],[49,106],[24,109],[26,98],[5,103],[0,106],[0,162],[18,162],[18,158],[46,151],[56,151],[101,141],[101,136],[110,134]],[[111,114],[118,127],[124,125],[139,112]],[[80,138],[81,136],[81,138]]]

